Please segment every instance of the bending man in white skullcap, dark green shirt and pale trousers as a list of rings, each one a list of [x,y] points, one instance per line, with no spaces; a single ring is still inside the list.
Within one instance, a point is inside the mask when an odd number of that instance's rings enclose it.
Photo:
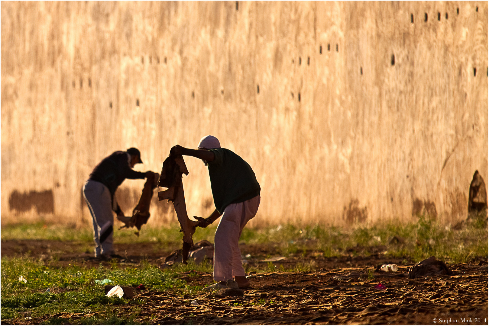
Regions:
[[[204,289],[225,288],[225,281],[233,277],[239,287],[248,287],[238,240],[260,205],[260,185],[255,173],[243,158],[221,148],[219,140],[211,135],[202,137],[197,150],[179,145],[172,150],[200,158],[209,169],[216,210],[206,219],[200,217],[199,226],[206,227],[222,215],[214,236],[214,281],[218,283]]]

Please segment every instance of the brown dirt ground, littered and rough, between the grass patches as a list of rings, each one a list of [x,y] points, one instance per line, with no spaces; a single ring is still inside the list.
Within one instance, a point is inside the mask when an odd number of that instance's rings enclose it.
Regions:
[[[94,261],[89,251],[79,253],[86,246],[87,243],[80,242],[9,240],[1,242],[1,256],[28,255],[46,260],[55,257],[52,263],[59,265],[98,266],[100,262]],[[298,262],[314,261],[317,267],[313,272],[258,273],[253,268],[263,269],[270,256],[279,259],[273,244],[240,247],[244,256],[249,254],[245,259],[251,266],[251,288],[244,290],[243,297],[223,297],[203,291],[195,296],[178,296],[136,290],[135,298],[144,298],[145,303],[140,305],[141,313],[135,321],[163,325],[488,324],[488,265],[484,260],[448,264],[454,272],[452,276],[409,280],[406,272],[415,262],[402,264],[408,258],[386,259],[381,253],[368,257],[323,258],[311,251],[272,263],[287,268]],[[155,243],[115,245],[116,251],[125,257],[119,262],[123,265],[142,259],[159,265],[162,258],[177,248],[177,244],[168,250]],[[385,262],[398,263],[399,271],[375,272],[374,279],[369,280],[368,269]],[[209,273],[182,273],[181,278],[190,285],[213,282]],[[378,283],[386,289],[375,289]],[[75,319],[87,316],[57,315]],[[29,322],[40,324],[47,318],[33,318]]]

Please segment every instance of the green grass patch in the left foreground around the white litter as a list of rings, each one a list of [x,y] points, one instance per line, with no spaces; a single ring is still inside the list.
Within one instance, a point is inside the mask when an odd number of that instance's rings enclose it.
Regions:
[[[104,286],[95,280],[110,279],[113,285],[136,286],[144,284],[148,290],[195,294],[199,286],[189,286],[181,280],[182,272],[212,271],[208,263],[195,265],[177,264],[166,270],[143,261],[135,267],[122,267],[113,264],[111,267],[99,266],[86,268],[78,266],[53,267],[43,261],[25,258],[1,259],[1,318],[14,319],[28,312],[30,316],[54,315],[59,312],[93,313],[109,311],[87,317],[83,324],[134,324],[133,313],[137,312],[138,302],[118,297],[107,297]],[[187,273],[188,274],[188,273]],[[19,281],[20,276],[27,282]],[[46,290],[49,288],[49,292]],[[130,304],[123,315],[117,312]],[[135,309],[135,310],[134,310]],[[66,319],[55,317],[47,324],[63,324]],[[77,321],[80,323],[80,321]]]

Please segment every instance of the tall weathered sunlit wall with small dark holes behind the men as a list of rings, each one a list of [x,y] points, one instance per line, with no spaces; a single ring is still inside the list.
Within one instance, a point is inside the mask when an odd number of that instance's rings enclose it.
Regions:
[[[2,222],[81,223],[102,158],[134,146],[159,172],[206,134],[253,167],[255,223],[465,218],[488,180],[487,69],[487,1],[2,1]],[[118,190],[127,213],[143,182]]]

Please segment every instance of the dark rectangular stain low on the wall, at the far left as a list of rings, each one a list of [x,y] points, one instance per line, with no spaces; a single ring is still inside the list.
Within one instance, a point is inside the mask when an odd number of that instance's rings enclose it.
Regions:
[[[29,191],[21,193],[14,190],[8,199],[10,211],[28,212],[35,207],[38,213],[54,214],[54,197],[51,189],[45,191]]]

